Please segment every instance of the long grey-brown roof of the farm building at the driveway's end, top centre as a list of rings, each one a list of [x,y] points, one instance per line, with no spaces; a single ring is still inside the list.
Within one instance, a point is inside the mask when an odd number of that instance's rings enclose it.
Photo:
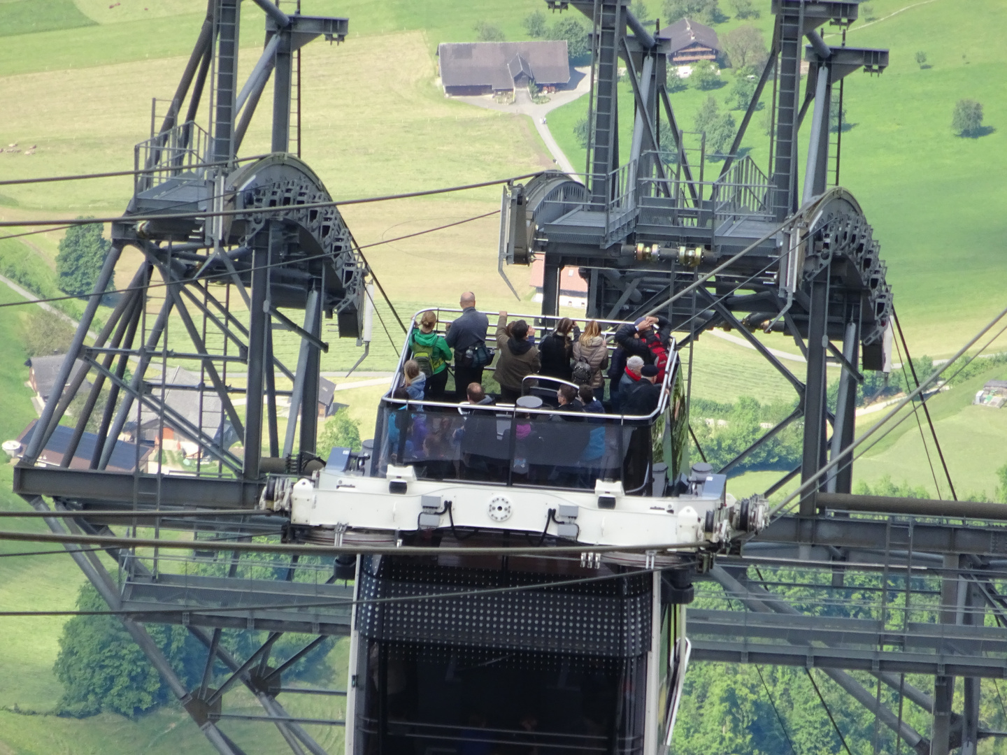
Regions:
[[[521,72],[539,84],[566,84],[570,60],[565,39],[530,42],[442,42],[437,47],[445,87],[514,89]]]

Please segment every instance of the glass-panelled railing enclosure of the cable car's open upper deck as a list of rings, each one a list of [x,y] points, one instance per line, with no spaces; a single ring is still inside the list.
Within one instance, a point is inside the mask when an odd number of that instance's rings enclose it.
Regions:
[[[621,324],[604,323],[606,340],[613,340]],[[486,344],[494,345],[492,332]],[[402,363],[409,356],[404,349]],[[485,368],[484,384],[490,382],[491,369],[491,364]],[[391,398],[402,380],[400,364],[393,391],[379,409],[371,463],[375,476],[387,476],[390,467],[411,467],[422,480],[570,490],[594,490],[600,480],[619,483],[626,495],[661,496],[684,471],[686,397],[674,341],[661,401],[646,416],[560,412],[557,389],[577,386],[555,378],[528,375],[523,381],[522,394],[540,398],[540,409],[499,401],[459,406]]]

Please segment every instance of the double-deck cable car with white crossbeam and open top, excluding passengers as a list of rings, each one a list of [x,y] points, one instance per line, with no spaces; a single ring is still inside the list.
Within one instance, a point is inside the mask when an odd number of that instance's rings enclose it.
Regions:
[[[765,518],[687,466],[674,344],[658,407],[624,416],[562,411],[563,382],[535,375],[517,404],[392,398],[408,342],[373,456],[336,449],[262,499],[296,538],[435,549],[345,564],[347,755],[663,751],[692,577]]]

